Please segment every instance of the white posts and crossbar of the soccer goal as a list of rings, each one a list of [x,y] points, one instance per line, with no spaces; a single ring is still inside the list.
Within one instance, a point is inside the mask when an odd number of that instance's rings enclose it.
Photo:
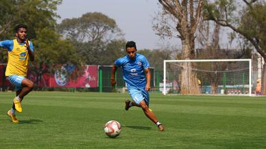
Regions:
[[[163,61],[163,91],[166,95],[166,64],[167,62],[249,62],[249,96],[252,96],[252,59],[186,59],[186,60],[164,60]]]

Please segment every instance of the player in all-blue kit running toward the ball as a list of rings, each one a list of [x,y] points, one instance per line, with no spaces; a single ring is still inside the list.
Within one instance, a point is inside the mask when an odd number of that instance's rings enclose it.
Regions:
[[[132,106],[141,107],[143,112],[158,126],[159,131],[164,131],[165,127],[157,120],[156,116],[149,109],[149,90],[151,89],[151,74],[149,72],[149,62],[144,55],[136,53],[136,43],[127,42],[125,51],[128,55],[117,59],[112,66],[111,85],[116,84],[115,72],[117,67],[123,70],[123,79],[128,87],[128,92],[133,101],[125,100],[125,110]]]

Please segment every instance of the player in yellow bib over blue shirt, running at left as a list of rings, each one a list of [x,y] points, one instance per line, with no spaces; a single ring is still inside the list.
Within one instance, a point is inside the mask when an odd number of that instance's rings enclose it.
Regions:
[[[12,122],[18,123],[15,111],[22,112],[21,101],[34,87],[34,83],[26,78],[28,60],[34,61],[34,52],[32,42],[27,40],[27,26],[16,25],[14,31],[16,39],[1,41],[0,46],[8,49],[8,66],[5,76],[16,87],[16,97],[12,108],[8,111],[8,116]]]

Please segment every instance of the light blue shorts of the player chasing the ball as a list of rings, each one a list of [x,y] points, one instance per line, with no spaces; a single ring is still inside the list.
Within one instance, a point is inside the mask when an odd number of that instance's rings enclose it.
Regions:
[[[145,100],[145,103],[149,105],[149,92],[143,89],[138,89],[135,87],[128,88],[128,92],[130,93],[131,98],[134,100],[136,104],[139,105],[142,100]]]

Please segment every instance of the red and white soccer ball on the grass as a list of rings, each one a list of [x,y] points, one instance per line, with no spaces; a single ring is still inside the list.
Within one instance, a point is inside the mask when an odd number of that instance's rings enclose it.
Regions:
[[[110,120],[104,125],[104,132],[108,137],[117,137],[121,132],[121,124],[116,120]]]

